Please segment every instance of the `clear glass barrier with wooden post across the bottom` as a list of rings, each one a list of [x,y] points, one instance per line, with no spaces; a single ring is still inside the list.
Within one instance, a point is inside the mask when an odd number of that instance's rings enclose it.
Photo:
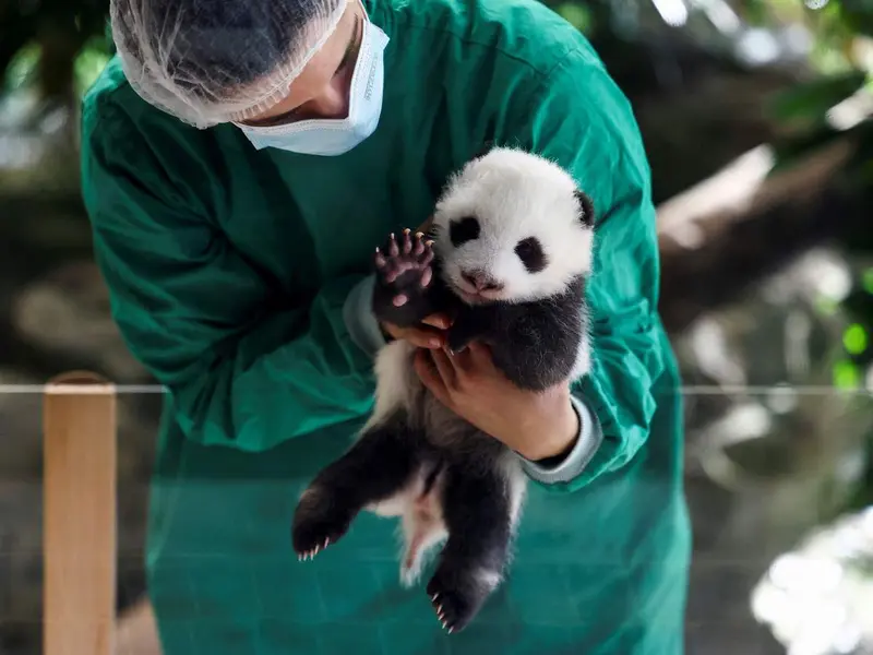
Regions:
[[[160,386],[73,372],[2,391],[3,653],[159,655],[158,624],[165,655],[575,652],[603,623],[657,631],[680,597],[686,653],[873,647],[865,390],[685,385],[681,460],[653,431],[581,490],[528,485],[509,573],[454,634],[433,569],[402,584],[395,519],[360,514],[311,561],[291,548],[350,426],[248,453],[158,442]]]

